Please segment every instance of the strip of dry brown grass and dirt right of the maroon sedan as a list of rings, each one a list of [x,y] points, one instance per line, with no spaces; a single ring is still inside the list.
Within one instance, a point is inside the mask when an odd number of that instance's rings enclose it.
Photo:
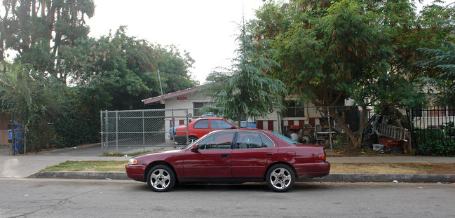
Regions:
[[[455,163],[331,163],[330,173],[455,174]]]

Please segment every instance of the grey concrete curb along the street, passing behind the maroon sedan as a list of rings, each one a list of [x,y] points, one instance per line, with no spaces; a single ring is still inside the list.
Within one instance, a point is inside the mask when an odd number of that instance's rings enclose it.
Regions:
[[[126,172],[41,172],[29,178],[130,179]],[[325,177],[299,179],[299,182],[455,182],[455,174],[362,174],[332,173]]]

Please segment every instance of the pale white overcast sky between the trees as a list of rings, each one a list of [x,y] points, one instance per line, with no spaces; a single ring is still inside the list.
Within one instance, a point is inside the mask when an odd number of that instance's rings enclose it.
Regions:
[[[236,23],[254,18],[262,0],[95,0],[95,15],[87,20],[89,36],[115,32],[154,44],[174,44],[196,61],[191,76],[201,84],[215,67],[229,67],[235,57]]]

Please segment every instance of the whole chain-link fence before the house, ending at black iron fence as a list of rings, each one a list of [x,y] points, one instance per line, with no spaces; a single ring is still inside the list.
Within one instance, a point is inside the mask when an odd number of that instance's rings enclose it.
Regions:
[[[102,111],[102,153],[113,148],[118,151],[119,147],[145,149],[175,146],[177,143],[188,144],[201,136],[196,137],[187,125],[197,118],[208,116],[193,116],[199,114],[198,110]],[[371,121],[372,117],[367,112],[365,122]],[[330,154],[333,155],[334,149],[352,147],[348,136],[358,135],[360,114],[362,111],[358,107],[288,107],[285,111],[273,111],[266,117],[244,120],[241,126],[273,130],[306,144],[321,144],[330,149]],[[236,124],[229,120],[226,123]],[[225,123],[218,125],[219,128],[231,128]],[[176,139],[180,140],[177,142]]]

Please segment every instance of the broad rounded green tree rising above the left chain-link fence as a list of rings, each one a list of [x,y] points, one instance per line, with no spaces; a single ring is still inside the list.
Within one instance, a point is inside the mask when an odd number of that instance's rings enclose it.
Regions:
[[[67,61],[59,70],[71,75],[72,83],[88,88],[89,96],[108,95],[102,98],[107,104],[101,109],[144,107],[141,100],[161,95],[158,69],[165,93],[198,84],[189,72],[194,62],[189,53],[127,36],[125,28],[97,40],[78,39],[73,47],[62,48]]]

